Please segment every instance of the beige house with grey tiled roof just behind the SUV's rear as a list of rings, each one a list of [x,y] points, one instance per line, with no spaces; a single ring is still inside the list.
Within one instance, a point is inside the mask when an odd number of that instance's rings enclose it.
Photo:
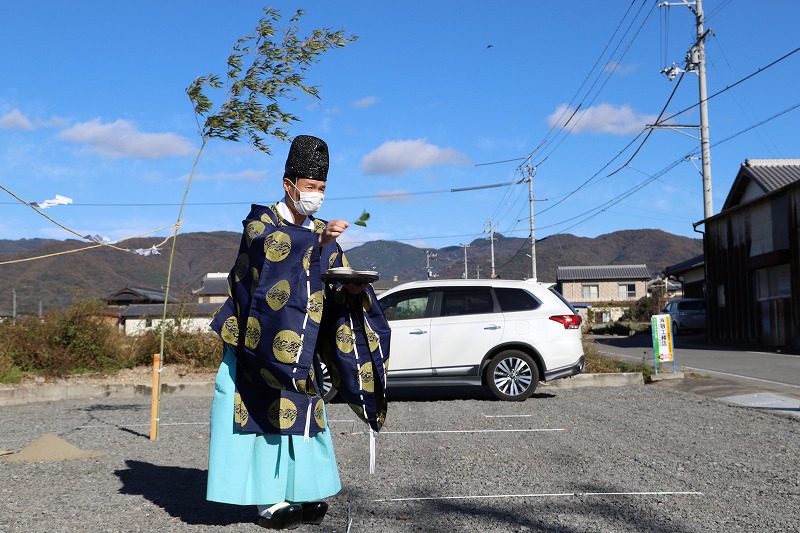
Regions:
[[[594,322],[618,320],[630,305],[647,296],[647,265],[563,266],[556,272],[556,286],[564,298]]]

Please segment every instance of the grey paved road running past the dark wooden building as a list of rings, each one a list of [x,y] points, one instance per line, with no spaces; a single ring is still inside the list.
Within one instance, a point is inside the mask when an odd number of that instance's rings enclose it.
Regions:
[[[653,364],[652,341],[647,335],[634,337],[615,337],[598,335],[600,353],[628,360]],[[790,355],[768,351],[753,351],[708,344],[704,335],[677,337],[675,342],[675,361],[678,370],[694,372],[714,378],[706,385],[720,385],[720,394],[725,392],[727,383],[731,390],[769,391],[793,398],[800,398],[800,355]],[[662,371],[671,372],[669,363],[661,366]],[[699,384],[703,385],[701,381]],[[711,390],[710,396],[719,396]],[[730,392],[730,391],[728,391]]]

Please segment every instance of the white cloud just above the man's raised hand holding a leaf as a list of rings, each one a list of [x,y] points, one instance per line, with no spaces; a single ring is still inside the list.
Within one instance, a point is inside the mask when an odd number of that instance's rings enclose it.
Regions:
[[[462,152],[416,139],[383,143],[361,159],[361,169],[367,174],[403,174],[409,169],[463,166],[468,162],[469,158]]]

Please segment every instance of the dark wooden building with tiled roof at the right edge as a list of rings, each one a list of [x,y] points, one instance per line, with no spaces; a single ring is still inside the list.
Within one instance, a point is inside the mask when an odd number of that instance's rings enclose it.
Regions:
[[[800,159],[745,160],[703,223],[710,340],[800,349]]]

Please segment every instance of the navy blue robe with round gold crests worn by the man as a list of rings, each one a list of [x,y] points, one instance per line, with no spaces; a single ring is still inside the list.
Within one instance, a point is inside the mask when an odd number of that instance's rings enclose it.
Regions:
[[[211,328],[236,354],[234,429],[315,435],[325,428],[319,353],[342,399],[374,431],[386,417],[390,330],[375,293],[358,296],[324,284],[331,267],[348,266],[335,242],[319,246],[325,223],[310,230],[276,206],[253,205],[243,221],[229,298]]]

